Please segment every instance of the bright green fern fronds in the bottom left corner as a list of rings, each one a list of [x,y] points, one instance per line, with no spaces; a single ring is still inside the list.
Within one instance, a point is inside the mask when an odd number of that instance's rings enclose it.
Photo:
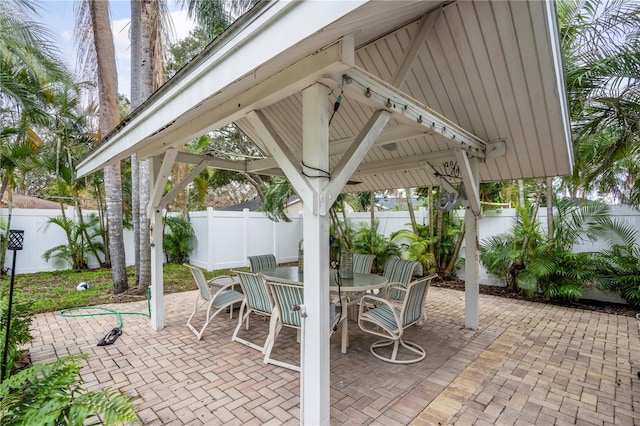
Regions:
[[[105,389],[87,392],[79,384],[80,361],[71,355],[22,370],[0,384],[0,424],[115,425],[136,422],[129,397]]]

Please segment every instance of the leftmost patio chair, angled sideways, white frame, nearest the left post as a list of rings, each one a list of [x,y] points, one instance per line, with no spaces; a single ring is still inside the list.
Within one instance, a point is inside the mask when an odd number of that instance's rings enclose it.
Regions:
[[[244,295],[234,289],[234,286],[238,285],[232,277],[228,275],[221,275],[215,277],[209,281],[204,277],[202,269],[193,265],[185,265],[191,269],[191,274],[198,284],[198,295],[196,296],[193,313],[187,320],[187,327],[193,331],[198,340],[202,338],[204,329],[207,328],[209,322],[220,312],[230,308],[230,316],[233,316],[233,305],[241,303],[244,300]],[[200,300],[202,299],[202,300]],[[207,316],[204,325],[198,331],[192,324],[191,320],[196,315],[198,310],[207,304]]]

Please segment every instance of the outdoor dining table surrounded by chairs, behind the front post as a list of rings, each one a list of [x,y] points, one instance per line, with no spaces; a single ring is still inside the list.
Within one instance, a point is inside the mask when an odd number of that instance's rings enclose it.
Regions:
[[[304,275],[299,272],[297,266],[278,266],[276,268],[264,269],[260,271],[260,273],[264,275],[267,280],[269,280],[270,278],[276,280],[280,279],[287,281],[297,281],[301,284],[303,283],[302,280],[304,277]],[[341,285],[338,287],[336,273],[337,270],[331,269],[329,290],[334,293],[340,291],[342,293],[341,297],[343,298],[348,298],[349,294],[360,295],[370,290],[382,290],[388,284],[387,279],[381,275],[359,274],[354,272],[353,278],[340,277]],[[346,310],[343,309],[343,312],[346,312]],[[345,326],[345,328],[343,328],[343,333],[343,347],[346,348],[349,345],[348,326]],[[344,352],[345,351],[343,350],[343,353]]]

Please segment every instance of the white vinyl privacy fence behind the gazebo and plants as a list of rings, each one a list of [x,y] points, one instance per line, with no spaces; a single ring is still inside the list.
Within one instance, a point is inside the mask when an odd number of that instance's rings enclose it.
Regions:
[[[6,209],[0,209],[0,217],[6,222]],[[91,212],[85,212],[87,214]],[[460,211],[462,214],[462,211]],[[67,217],[75,218],[73,208],[65,211]],[[425,208],[416,210],[416,221],[428,223]],[[47,225],[50,217],[60,216],[60,210],[14,209],[11,229],[21,229],[24,234],[24,249],[17,252],[16,273],[52,271],[55,268],[44,261],[42,254],[60,244],[66,244],[65,235],[57,225]],[[290,215],[292,222],[272,222],[263,213],[214,211],[192,212],[191,224],[198,243],[191,253],[191,263],[206,270],[248,266],[247,256],[273,253],[279,263],[297,260],[298,244],[302,239],[302,214]],[[543,229],[546,229],[546,209],[538,213]],[[630,223],[640,233],[640,213],[624,206],[612,206],[612,216]],[[350,213],[349,220],[354,224],[369,223],[370,213]],[[480,219],[478,230],[480,242],[484,239],[508,232],[513,225],[515,209],[502,209],[485,213]],[[375,218],[380,222],[378,232],[389,236],[392,232],[410,228],[409,214],[406,211],[376,212]],[[125,251],[127,264],[132,265],[133,235],[125,230]],[[640,243],[640,241],[639,241]],[[594,251],[606,247],[604,242],[587,242],[577,250]],[[464,257],[464,251],[461,255]],[[12,252],[7,252],[5,266],[10,267]],[[97,267],[97,262],[90,262]],[[464,270],[459,271],[464,279]],[[497,284],[480,267],[480,282]]]

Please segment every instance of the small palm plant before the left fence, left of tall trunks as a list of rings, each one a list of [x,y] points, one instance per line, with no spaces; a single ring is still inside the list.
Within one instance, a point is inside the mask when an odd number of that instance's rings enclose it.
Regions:
[[[67,244],[60,244],[45,251],[42,257],[57,268],[71,264],[79,271],[88,269],[89,256],[104,253],[104,239],[100,230],[100,219],[92,213],[85,221],[74,221],[65,216],[52,217],[47,222],[58,225],[67,236]]]

